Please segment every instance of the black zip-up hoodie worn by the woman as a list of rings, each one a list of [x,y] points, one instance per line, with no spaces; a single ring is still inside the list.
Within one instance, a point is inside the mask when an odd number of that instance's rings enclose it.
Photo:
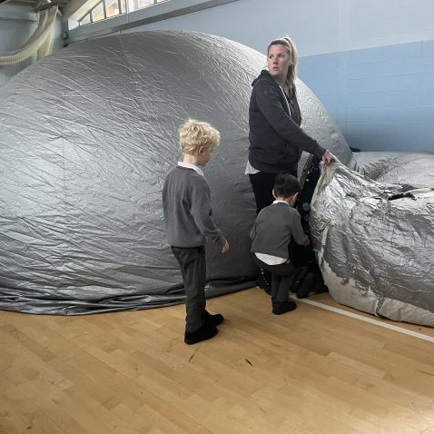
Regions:
[[[266,70],[252,86],[249,105],[252,166],[260,172],[296,173],[302,150],[321,158],[325,149],[300,127],[301,111],[295,91],[288,98]]]

